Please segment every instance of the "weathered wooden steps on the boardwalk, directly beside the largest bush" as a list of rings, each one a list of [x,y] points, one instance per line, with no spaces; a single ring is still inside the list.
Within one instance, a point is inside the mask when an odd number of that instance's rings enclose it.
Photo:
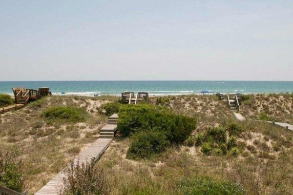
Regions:
[[[117,130],[117,120],[118,115],[114,114],[108,118],[107,125],[105,125],[101,131],[99,138],[114,138],[115,132]]]

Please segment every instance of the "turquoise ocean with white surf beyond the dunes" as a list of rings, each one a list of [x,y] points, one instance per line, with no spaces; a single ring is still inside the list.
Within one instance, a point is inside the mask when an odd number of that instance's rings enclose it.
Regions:
[[[12,94],[12,87],[50,87],[57,95],[120,95],[124,91],[150,95],[214,93],[293,93],[293,81],[0,81],[0,93]]]

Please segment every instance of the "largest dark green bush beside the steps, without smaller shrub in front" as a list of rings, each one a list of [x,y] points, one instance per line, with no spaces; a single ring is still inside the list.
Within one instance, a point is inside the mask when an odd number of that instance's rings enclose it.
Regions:
[[[170,142],[183,142],[196,129],[192,117],[173,114],[169,109],[150,105],[123,105],[119,110],[118,128],[123,136],[138,131],[158,129]]]

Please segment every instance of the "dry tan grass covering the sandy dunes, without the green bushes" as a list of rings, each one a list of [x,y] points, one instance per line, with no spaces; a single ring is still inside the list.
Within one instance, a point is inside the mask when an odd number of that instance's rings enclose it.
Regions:
[[[22,157],[25,189],[37,192],[65,165],[94,142],[106,123],[101,105],[117,97],[56,96],[29,103],[25,108],[0,115],[0,148]],[[253,95],[246,97],[240,113],[259,119],[260,113],[279,121],[293,121],[291,95]],[[229,192],[251,194],[293,194],[293,132],[262,121],[237,121],[227,103],[216,96],[152,97],[149,104],[162,105],[173,113],[194,117],[197,128],[188,142],[172,143],[152,158],[127,158],[131,139],[118,131],[105,154],[96,163],[103,168],[111,194],[179,195],[193,192],[192,186],[205,190],[227,188]],[[268,105],[268,106],[266,106]],[[256,106],[256,109],[255,109]],[[42,113],[52,107],[83,109],[86,117],[77,120],[51,120]],[[236,149],[223,155],[218,150],[203,153],[200,137],[209,128],[236,124]],[[190,140],[189,140],[190,139]],[[207,137],[207,140],[210,138]],[[226,140],[228,144],[228,139]],[[222,151],[222,150],[221,150]],[[187,188],[187,185],[190,188]],[[226,193],[226,194],[227,194]]]

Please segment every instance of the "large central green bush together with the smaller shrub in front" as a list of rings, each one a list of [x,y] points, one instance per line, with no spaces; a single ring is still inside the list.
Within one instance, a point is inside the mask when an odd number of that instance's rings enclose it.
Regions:
[[[118,129],[124,137],[131,135],[127,157],[149,158],[170,143],[182,143],[196,129],[196,121],[162,106],[127,105],[119,110]]]

